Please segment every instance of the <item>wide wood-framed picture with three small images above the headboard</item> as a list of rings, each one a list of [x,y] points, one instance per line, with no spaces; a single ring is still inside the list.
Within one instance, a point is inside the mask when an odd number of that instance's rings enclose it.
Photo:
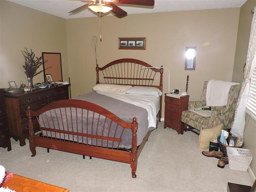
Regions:
[[[146,38],[118,38],[118,49],[146,49]]]

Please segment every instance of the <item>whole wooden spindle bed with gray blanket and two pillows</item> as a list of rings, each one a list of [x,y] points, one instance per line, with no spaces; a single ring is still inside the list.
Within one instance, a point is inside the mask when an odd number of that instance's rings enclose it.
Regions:
[[[115,60],[102,68],[97,65],[94,91],[53,102],[38,111],[28,107],[32,156],[39,146],[129,163],[132,178],[136,178],[137,159],[157,126],[141,103],[155,107],[151,116],[156,121],[156,114],[160,121],[162,112],[163,69],[150,67],[131,58]],[[111,91],[105,91],[109,87]],[[143,94],[138,93],[141,90]],[[145,90],[150,94],[145,95]],[[37,118],[39,132],[34,133],[32,118]]]

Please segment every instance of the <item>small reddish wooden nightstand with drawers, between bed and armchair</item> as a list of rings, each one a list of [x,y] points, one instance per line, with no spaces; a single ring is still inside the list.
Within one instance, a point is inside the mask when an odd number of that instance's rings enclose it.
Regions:
[[[164,96],[164,128],[169,127],[181,133],[181,113],[188,110],[189,95]]]

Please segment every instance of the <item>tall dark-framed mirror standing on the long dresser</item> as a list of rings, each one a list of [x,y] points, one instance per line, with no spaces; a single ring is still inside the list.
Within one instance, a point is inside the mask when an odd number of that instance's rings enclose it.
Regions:
[[[44,63],[44,66],[43,66],[44,82],[62,81],[62,67],[61,67],[60,53],[42,52],[42,57],[43,57],[43,62],[47,61],[46,63]]]

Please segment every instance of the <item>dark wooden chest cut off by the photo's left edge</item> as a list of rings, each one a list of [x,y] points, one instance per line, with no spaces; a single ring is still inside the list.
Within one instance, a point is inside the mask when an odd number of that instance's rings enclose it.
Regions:
[[[4,89],[0,89],[0,147],[7,147],[8,151],[12,150],[6,108],[4,104]]]

